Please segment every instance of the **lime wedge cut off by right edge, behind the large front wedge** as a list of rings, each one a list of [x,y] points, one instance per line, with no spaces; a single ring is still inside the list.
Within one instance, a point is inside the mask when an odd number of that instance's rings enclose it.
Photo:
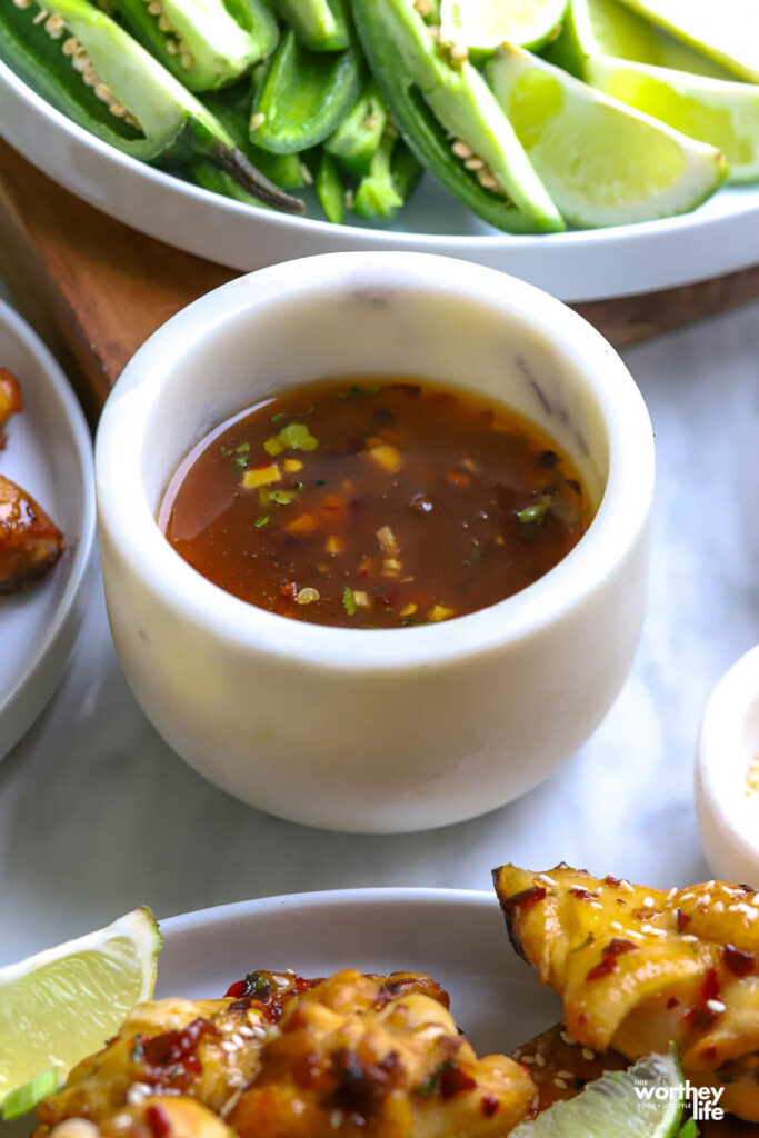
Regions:
[[[603,57],[586,59],[585,79],[604,94],[716,146],[729,164],[729,182],[759,179],[758,85]]]

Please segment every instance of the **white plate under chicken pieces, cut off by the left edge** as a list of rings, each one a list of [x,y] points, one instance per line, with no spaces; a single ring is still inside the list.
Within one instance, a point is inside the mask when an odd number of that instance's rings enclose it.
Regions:
[[[0,365],[22,387],[24,411],[6,429],[0,473],[51,516],[66,550],[31,588],[0,595],[0,759],[63,678],[88,600],[94,538],[92,442],[63,371],[32,329],[0,302]]]

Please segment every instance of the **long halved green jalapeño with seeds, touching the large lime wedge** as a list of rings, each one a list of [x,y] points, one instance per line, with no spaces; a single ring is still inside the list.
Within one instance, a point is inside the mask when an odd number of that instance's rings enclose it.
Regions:
[[[409,0],[353,0],[361,42],[390,114],[420,162],[470,209],[512,233],[562,217],[465,50],[439,42]]]

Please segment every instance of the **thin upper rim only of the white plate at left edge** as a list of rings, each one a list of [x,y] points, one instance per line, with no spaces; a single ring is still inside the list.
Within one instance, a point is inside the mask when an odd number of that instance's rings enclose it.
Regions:
[[[18,674],[15,683],[8,691],[0,695],[0,716],[11,706],[22,688],[26,687],[42,668],[50,651],[52,650],[61,629],[68,618],[68,613],[74,604],[76,595],[82,587],[97,528],[97,511],[94,501],[94,468],[92,462],[92,437],[90,428],[84,419],[84,413],[79,404],[74,389],[68,382],[58,361],[53,357],[49,348],[42,343],[38,333],[30,328],[26,321],[0,299],[0,325],[10,331],[16,339],[20,340],[36,360],[41,371],[44,373],[48,387],[55,393],[63,412],[68,421],[71,432],[76,448],[76,457],[84,487],[82,501],[82,530],[76,542],[76,549],[71,561],[66,566],[68,578],[65,588],[58,601],[58,607],[52,616],[46,635],[36,645],[35,651],[28,659],[26,667]]]

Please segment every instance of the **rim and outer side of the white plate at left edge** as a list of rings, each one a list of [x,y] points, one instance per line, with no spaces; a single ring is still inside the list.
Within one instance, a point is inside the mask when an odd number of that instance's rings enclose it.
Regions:
[[[50,627],[14,686],[0,694],[1,759],[32,726],[63,679],[84,619],[84,593],[91,577],[96,534],[96,505],[92,439],[66,376],[36,332],[5,300],[0,300],[0,324],[9,329],[38,361],[68,423],[84,486],[82,531],[73,556],[65,567],[68,579]]]

